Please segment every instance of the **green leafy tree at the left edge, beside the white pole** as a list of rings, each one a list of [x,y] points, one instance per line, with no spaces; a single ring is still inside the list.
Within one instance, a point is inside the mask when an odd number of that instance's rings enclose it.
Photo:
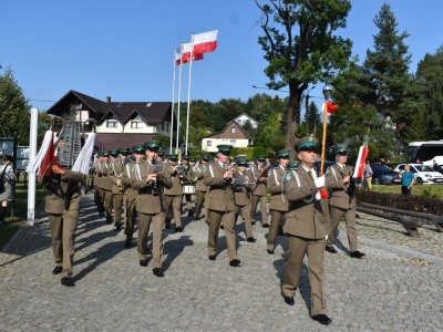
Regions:
[[[13,77],[11,68],[0,74],[0,135],[17,136],[19,145],[29,145],[30,105]]]

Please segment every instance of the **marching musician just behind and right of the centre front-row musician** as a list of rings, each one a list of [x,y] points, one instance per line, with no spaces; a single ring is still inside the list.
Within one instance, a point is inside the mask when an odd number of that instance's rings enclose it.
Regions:
[[[247,170],[248,162],[243,159],[237,159],[237,170],[234,173],[234,178],[244,178],[247,184],[250,179],[250,174]],[[253,220],[250,219],[250,189],[245,186],[237,187],[234,193],[236,211],[235,220],[237,221],[238,215],[241,211],[241,216],[245,219],[245,234],[246,241],[254,243],[257,241],[253,235]]]

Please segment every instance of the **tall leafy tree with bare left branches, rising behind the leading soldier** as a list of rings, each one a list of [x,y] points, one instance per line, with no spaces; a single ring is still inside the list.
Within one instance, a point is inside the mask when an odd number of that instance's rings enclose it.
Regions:
[[[269,62],[265,69],[270,89],[289,86],[286,147],[295,152],[295,132],[300,123],[300,98],[308,84],[331,80],[349,64],[352,43],[333,35],[346,27],[351,9],[348,0],[269,0],[260,4],[258,39]]]

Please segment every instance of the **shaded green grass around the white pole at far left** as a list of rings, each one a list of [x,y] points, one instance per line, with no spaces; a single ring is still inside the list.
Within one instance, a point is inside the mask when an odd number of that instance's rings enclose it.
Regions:
[[[35,208],[43,201],[47,191],[43,186],[35,185]],[[8,204],[7,216],[4,218],[8,221],[7,225],[0,226],[0,248],[2,248],[9,239],[19,230],[20,227],[25,225],[28,219],[28,187],[23,183],[16,184],[16,208],[14,217],[11,218],[11,206],[12,201]]]

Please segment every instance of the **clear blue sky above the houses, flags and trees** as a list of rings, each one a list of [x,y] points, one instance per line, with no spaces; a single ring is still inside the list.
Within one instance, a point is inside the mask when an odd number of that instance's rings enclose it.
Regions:
[[[259,0],[265,3],[265,0]],[[373,18],[388,2],[412,53],[411,72],[426,52],[443,44],[441,0],[353,0],[348,27],[339,34],[365,58],[378,32]],[[174,49],[190,32],[218,29],[218,48],[195,62],[190,98],[247,101],[267,92],[266,62],[257,43],[260,11],[254,0],[0,0],[0,64],[40,111],[68,91],[105,101],[172,101]],[[0,69],[0,71],[2,71]],[[178,71],[177,71],[178,75]],[[183,68],[182,101],[187,101],[188,65]],[[311,95],[322,96],[323,83]],[[175,101],[177,101],[177,87]],[[321,102],[318,100],[319,103]]]

